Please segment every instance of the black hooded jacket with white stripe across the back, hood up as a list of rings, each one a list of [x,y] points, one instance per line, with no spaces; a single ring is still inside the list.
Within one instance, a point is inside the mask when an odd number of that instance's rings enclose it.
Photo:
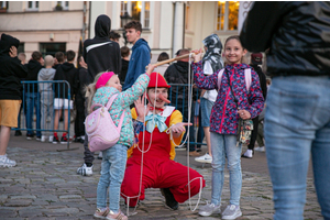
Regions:
[[[92,82],[97,74],[101,72],[113,72],[120,74],[121,55],[117,42],[110,41],[111,20],[101,14],[95,23],[95,37],[84,42],[82,56],[88,65],[89,79]]]

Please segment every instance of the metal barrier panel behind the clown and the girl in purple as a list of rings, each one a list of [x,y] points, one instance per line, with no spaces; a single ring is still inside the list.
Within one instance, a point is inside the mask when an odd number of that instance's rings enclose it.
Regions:
[[[190,145],[206,145],[202,143],[204,140],[204,129],[200,124],[201,114],[200,106],[198,102],[200,96],[200,89],[191,88],[188,84],[169,84],[170,88],[168,90],[168,100],[170,106],[174,106],[183,114],[184,122],[191,122],[193,125],[189,127],[189,144]],[[191,103],[189,108],[189,97],[191,97]],[[188,119],[188,110],[190,109],[190,119]],[[186,131],[186,134],[188,131]],[[185,140],[185,136],[183,141]]]

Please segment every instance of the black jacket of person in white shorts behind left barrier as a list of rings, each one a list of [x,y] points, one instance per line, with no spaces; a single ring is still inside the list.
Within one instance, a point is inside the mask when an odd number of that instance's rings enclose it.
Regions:
[[[75,88],[75,76],[78,74],[77,68],[74,64],[64,63],[57,67],[54,80],[66,80],[70,85],[70,99],[74,97]],[[67,84],[55,84],[54,85],[55,98],[65,98],[68,99],[68,86]]]

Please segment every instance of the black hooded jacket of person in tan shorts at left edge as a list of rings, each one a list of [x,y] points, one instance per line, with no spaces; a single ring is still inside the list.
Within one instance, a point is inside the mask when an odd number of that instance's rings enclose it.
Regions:
[[[21,79],[28,75],[28,69],[18,57],[10,57],[11,46],[19,47],[20,41],[7,34],[0,40],[0,99],[21,100]]]

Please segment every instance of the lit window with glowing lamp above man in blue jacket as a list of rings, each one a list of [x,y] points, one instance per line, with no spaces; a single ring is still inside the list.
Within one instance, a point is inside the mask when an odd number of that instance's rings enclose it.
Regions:
[[[120,6],[120,15],[128,12],[132,20],[141,22],[142,28],[150,28],[150,1],[121,1]]]

